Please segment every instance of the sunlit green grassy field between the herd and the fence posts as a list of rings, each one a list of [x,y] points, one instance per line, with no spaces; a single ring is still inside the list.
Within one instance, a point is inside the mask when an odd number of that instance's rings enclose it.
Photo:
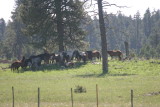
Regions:
[[[0,64],[4,68],[8,64]],[[102,74],[101,64],[76,63],[64,69],[56,65],[38,71],[13,73],[0,68],[0,107],[12,106],[12,86],[15,107],[37,107],[40,88],[41,107],[71,107],[71,88],[82,86],[86,93],[73,93],[74,107],[96,107],[96,84],[99,107],[130,107],[130,92],[134,91],[135,107],[160,107],[159,60],[109,60],[109,73]]]

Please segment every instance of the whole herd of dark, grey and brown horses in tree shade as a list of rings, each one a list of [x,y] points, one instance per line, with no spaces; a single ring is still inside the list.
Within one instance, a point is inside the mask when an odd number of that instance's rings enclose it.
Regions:
[[[122,52],[119,50],[110,50],[107,51],[108,54],[113,58],[114,56],[117,56],[119,60],[122,59]],[[20,61],[15,61],[11,64],[11,71],[15,71],[19,69],[19,67],[26,69],[27,67],[31,68],[32,70],[38,69],[42,61],[44,61],[44,64],[59,64],[64,67],[74,66],[74,61],[83,61],[86,63],[86,61],[97,58],[98,60],[101,60],[101,53],[97,50],[94,51],[63,51],[58,54],[56,53],[43,53],[39,55],[32,55],[29,58],[23,58]]]

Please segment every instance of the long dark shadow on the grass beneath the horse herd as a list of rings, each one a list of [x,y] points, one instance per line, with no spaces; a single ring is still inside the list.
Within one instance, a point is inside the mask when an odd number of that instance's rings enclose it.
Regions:
[[[37,69],[31,69],[31,68],[26,68],[26,69],[20,69],[19,72],[15,71],[15,73],[24,73],[27,71],[33,71],[33,72],[51,72],[51,71],[61,71],[61,70],[67,70],[67,69],[76,69],[76,68],[80,68],[84,65],[86,65],[87,63],[83,63],[83,62],[76,62],[74,67],[64,67],[64,66],[60,66],[58,64],[49,64],[49,65],[41,65],[39,68]]]

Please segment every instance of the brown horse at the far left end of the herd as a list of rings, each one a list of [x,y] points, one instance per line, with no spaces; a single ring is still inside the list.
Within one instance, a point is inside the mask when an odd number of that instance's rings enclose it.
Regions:
[[[25,57],[23,56],[22,60],[20,61],[15,61],[11,64],[11,71],[19,71],[19,67],[23,67],[23,64],[24,64],[24,61],[25,61]]]

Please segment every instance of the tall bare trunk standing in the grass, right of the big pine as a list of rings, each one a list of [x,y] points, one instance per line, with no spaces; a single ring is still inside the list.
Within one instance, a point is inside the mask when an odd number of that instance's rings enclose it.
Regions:
[[[107,40],[106,30],[103,18],[102,0],[98,0],[98,11],[99,11],[99,26],[101,33],[101,45],[102,45],[102,69],[103,73],[108,73],[108,54],[107,54]]]

